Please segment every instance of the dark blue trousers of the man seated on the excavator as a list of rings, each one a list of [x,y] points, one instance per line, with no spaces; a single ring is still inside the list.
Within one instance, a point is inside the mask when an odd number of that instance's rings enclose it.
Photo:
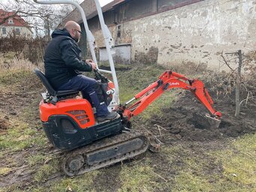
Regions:
[[[80,90],[83,98],[88,99],[96,108],[96,116],[103,117],[108,114],[108,107],[105,103],[100,103],[96,93],[96,86],[99,86],[93,78],[84,75],[77,75],[71,78],[66,84],[62,84],[58,90]]]

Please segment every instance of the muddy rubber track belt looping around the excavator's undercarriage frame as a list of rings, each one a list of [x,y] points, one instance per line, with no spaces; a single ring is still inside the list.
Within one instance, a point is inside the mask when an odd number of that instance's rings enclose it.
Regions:
[[[89,166],[89,165],[87,165],[87,163],[84,163],[84,166],[82,166],[82,168],[79,169],[77,172],[69,171],[69,169],[66,167],[66,162],[68,160],[70,160],[70,158],[75,157],[79,154],[81,154],[83,157],[85,157],[85,154],[89,153],[90,151],[97,151],[102,148],[108,148],[111,145],[120,144],[122,142],[136,139],[138,137],[143,138],[145,141],[143,147],[139,150],[129,152],[127,154],[123,154],[123,156],[121,156],[121,157],[114,157],[114,158],[111,158],[110,160],[105,160],[105,161],[98,163],[96,165],[93,165],[93,166]],[[66,175],[69,175],[69,176],[82,175],[85,172],[90,172],[92,170],[100,169],[105,166],[111,166],[112,164],[118,163],[122,160],[127,160],[130,158],[136,157],[137,155],[142,154],[145,151],[147,151],[149,145],[150,145],[149,139],[143,133],[132,133],[132,132],[120,133],[116,136],[111,136],[111,137],[93,142],[93,144],[84,146],[83,148],[78,148],[73,151],[66,152],[66,155],[65,155],[66,157],[64,158],[64,160],[62,162],[62,169],[66,173]]]

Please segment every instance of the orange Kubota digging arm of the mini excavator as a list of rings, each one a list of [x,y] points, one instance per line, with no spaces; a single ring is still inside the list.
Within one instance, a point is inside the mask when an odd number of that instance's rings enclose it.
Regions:
[[[142,90],[140,93],[136,94],[133,99],[126,102],[125,105],[121,106],[123,111],[123,116],[127,117],[130,120],[131,117],[140,114],[151,102],[154,102],[157,97],[161,96],[164,91],[170,90],[172,88],[181,88],[184,90],[190,90],[197,99],[206,106],[210,111],[212,116],[216,119],[221,118],[221,112],[216,111],[212,105],[211,96],[209,96],[208,91],[204,87],[202,81],[198,79],[190,80],[183,75],[180,75],[176,72],[171,72],[167,70],[160,75],[160,78],[149,85],[145,90]],[[131,102],[137,100],[133,105],[128,106]]]

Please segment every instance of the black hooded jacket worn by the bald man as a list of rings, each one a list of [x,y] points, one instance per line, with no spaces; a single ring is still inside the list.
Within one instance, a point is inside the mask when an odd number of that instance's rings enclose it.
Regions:
[[[58,90],[78,71],[91,72],[92,66],[81,60],[81,50],[66,29],[57,29],[51,36],[44,53],[44,69],[50,84]]]

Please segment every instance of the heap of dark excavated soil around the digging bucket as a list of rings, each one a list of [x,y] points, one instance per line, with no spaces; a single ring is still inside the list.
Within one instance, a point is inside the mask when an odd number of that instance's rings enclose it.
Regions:
[[[194,99],[190,93],[186,93],[172,107],[164,108],[163,114],[154,115],[151,119],[151,126],[160,127],[155,129],[157,136],[160,132],[163,142],[171,142],[177,139],[187,141],[216,140],[224,137],[237,137],[245,133],[254,133],[256,130],[256,106],[242,106],[239,117],[235,115],[235,104],[229,97],[219,99],[215,102],[215,110],[221,111],[221,123],[218,128],[206,126],[207,123],[200,123],[198,119],[203,114],[209,113],[200,102]],[[204,120],[204,119],[203,119]],[[161,134],[163,135],[163,134]],[[161,137],[161,136],[160,136]]]

